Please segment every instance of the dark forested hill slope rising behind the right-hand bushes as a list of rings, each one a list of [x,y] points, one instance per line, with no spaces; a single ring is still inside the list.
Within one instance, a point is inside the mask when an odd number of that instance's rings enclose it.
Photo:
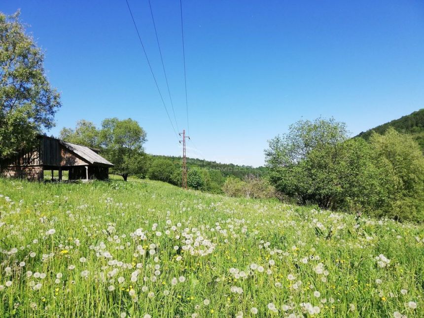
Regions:
[[[389,127],[393,127],[399,133],[412,135],[424,151],[424,108],[367,130],[366,132],[362,132],[358,136],[368,139],[373,131],[383,134]]]

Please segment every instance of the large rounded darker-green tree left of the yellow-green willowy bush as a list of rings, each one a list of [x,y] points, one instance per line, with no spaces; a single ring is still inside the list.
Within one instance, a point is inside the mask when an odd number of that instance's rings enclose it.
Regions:
[[[389,166],[363,140],[347,140],[345,124],[333,119],[299,121],[269,141],[270,179],[277,190],[323,209],[382,209],[389,200]]]

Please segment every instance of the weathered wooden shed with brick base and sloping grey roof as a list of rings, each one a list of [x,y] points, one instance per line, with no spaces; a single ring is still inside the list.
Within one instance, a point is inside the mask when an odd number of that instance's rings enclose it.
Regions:
[[[42,180],[44,170],[69,172],[69,180],[107,179],[113,164],[99,155],[99,150],[60,139],[39,136],[38,145],[31,150],[21,150],[10,158],[0,160],[3,177],[20,177]]]

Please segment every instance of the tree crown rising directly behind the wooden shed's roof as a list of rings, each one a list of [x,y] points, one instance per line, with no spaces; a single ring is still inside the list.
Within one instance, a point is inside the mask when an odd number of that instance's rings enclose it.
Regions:
[[[84,119],[78,120],[75,129],[63,128],[60,139],[88,147],[100,147],[100,131],[91,121]]]

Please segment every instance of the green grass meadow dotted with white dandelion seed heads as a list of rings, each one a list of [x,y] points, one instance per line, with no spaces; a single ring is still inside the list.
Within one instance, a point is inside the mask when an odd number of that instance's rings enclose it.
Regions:
[[[144,180],[0,179],[0,214],[0,317],[423,317],[423,226]]]

